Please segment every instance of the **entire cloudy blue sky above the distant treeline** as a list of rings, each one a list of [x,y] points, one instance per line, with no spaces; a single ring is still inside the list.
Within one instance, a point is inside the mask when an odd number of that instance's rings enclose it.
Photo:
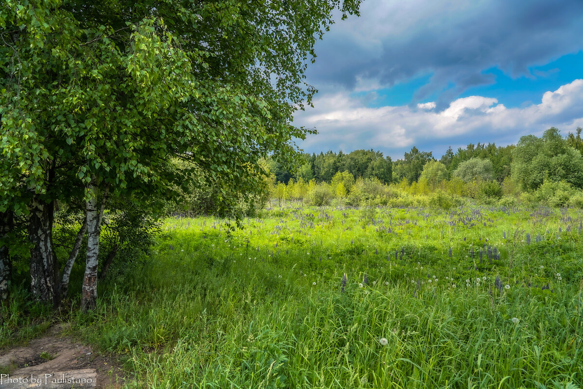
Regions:
[[[364,0],[316,45],[308,153],[515,144],[583,127],[583,0]]]

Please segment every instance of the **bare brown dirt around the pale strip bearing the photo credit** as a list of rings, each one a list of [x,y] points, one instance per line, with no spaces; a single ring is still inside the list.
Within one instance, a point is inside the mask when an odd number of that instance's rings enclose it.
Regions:
[[[55,373],[76,371],[81,374],[85,371],[83,374],[97,379],[96,385],[93,383],[90,387],[117,389],[124,386],[128,373],[121,369],[115,358],[94,352],[91,346],[62,337],[60,333],[61,328],[55,326],[26,345],[0,351],[0,374],[30,380],[30,377],[45,377],[45,374],[55,377]],[[0,384],[0,389],[3,386],[6,384]],[[75,384],[75,387],[79,385]]]

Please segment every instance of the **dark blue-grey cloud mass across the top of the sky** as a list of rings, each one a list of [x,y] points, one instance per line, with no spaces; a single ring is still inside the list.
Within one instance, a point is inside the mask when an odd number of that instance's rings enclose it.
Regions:
[[[323,92],[352,91],[431,74],[415,100],[437,94],[445,107],[469,87],[493,83],[483,70],[530,76],[529,66],[579,51],[582,36],[581,0],[365,0],[361,17],[324,36],[308,81]]]

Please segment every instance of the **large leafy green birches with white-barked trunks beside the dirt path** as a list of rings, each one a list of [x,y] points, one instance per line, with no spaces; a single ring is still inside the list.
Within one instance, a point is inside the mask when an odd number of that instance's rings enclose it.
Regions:
[[[108,195],[152,196],[188,170],[202,172],[224,208],[259,192],[261,158],[293,160],[292,139],[309,132],[291,121],[315,93],[304,82],[315,41],[335,10],[346,17],[359,4],[4,2],[0,220],[29,215],[37,298],[57,300],[56,200],[86,200],[92,280]],[[175,158],[189,168],[171,168]]]

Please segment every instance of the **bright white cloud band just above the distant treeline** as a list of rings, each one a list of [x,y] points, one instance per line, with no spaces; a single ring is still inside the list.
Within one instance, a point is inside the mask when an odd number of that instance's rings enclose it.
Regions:
[[[522,135],[540,135],[550,126],[573,131],[583,123],[583,80],[547,91],[539,104],[522,108],[507,108],[496,98],[482,96],[458,98],[440,112],[434,102],[371,108],[345,93],[319,96],[314,107],[294,118],[296,125],[318,130],[318,135],[298,143],[308,152],[373,148],[401,158],[417,146],[439,157],[444,144],[515,143]]]

